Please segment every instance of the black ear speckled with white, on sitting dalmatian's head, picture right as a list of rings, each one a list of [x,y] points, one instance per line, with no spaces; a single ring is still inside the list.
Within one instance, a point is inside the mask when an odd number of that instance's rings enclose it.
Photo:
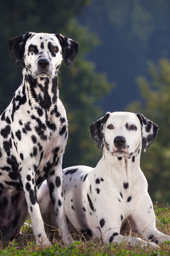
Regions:
[[[65,65],[70,68],[73,60],[78,54],[79,43],[76,41],[62,36],[61,34],[55,34],[62,46],[62,55]]]

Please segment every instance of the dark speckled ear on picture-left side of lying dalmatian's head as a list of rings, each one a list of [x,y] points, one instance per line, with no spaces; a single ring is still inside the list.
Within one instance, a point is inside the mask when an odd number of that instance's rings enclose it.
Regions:
[[[103,149],[104,146],[104,128],[110,114],[110,112],[107,112],[104,117],[101,117],[89,127],[91,137],[100,150]]]

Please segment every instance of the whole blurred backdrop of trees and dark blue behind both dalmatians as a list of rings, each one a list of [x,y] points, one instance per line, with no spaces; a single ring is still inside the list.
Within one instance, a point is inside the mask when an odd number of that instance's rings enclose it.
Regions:
[[[102,152],[89,125],[106,111],[141,112],[159,125],[141,155],[154,202],[170,203],[170,2],[168,0],[0,1],[0,111],[22,82],[8,39],[27,31],[61,33],[79,54],[60,68],[60,98],[69,120],[63,167],[95,167]]]

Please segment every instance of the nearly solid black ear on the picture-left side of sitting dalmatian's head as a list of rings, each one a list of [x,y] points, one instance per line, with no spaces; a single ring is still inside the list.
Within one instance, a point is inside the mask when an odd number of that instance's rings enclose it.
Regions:
[[[32,35],[31,33],[27,32],[24,35],[16,36],[8,40],[9,51],[16,66],[19,66],[23,59],[24,51],[25,51],[25,43],[27,42],[27,39],[31,35]]]

